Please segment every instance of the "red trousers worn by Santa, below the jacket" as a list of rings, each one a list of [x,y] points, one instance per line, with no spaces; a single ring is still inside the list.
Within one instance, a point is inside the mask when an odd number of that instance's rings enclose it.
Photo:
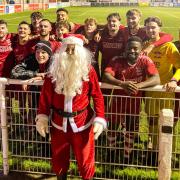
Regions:
[[[74,133],[70,125],[66,133],[52,127],[52,168],[57,175],[64,174],[69,169],[70,147],[75,154],[82,178],[84,180],[92,178],[95,172],[93,127],[90,126],[78,133]]]

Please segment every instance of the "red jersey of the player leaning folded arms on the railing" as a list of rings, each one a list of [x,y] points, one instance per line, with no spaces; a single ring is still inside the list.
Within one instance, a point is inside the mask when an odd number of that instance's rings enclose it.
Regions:
[[[143,82],[148,75],[158,74],[153,61],[147,56],[139,56],[134,65],[129,65],[125,58],[115,57],[105,69],[105,72],[110,73],[116,79],[121,81]],[[127,98],[127,93],[124,90],[118,89],[113,92],[115,95],[125,95],[121,100],[112,100],[112,112],[123,114],[139,114],[140,112],[140,98]],[[134,94],[133,96],[142,96],[142,92]],[[113,118],[113,121],[116,118]]]

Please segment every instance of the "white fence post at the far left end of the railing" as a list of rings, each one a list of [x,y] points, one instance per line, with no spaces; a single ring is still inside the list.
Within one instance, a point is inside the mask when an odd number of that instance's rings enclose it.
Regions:
[[[2,151],[3,151],[3,174],[8,175],[8,127],[6,118],[5,84],[0,83],[0,109],[1,109],[1,130],[2,130]]]

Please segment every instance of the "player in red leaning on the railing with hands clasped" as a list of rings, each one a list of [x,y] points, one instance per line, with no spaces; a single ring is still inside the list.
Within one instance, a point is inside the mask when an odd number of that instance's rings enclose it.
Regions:
[[[140,55],[141,50],[142,40],[137,36],[132,36],[128,39],[125,57],[114,57],[106,67],[103,80],[123,89],[114,91],[115,95],[141,97],[142,93],[138,92],[139,89],[160,83],[154,63],[147,56]],[[116,116],[111,117],[112,125],[110,126],[118,128],[121,124],[124,129],[125,158],[129,159],[135,138],[134,132],[138,131],[140,98],[121,98],[122,100],[119,101],[112,100],[111,109],[116,109],[116,112],[113,112]],[[108,139],[110,145],[116,146],[115,133],[110,133]]]

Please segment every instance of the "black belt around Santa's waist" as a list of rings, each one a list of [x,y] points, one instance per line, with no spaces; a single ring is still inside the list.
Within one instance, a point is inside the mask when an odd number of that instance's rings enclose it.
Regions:
[[[75,112],[66,112],[63,109],[57,109],[55,107],[52,107],[52,110],[54,110],[56,113],[58,113],[60,116],[62,117],[66,117],[66,118],[71,118],[71,117],[75,117],[79,114],[81,114],[83,111],[86,110],[86,107],[80,111],[75,111]]]

